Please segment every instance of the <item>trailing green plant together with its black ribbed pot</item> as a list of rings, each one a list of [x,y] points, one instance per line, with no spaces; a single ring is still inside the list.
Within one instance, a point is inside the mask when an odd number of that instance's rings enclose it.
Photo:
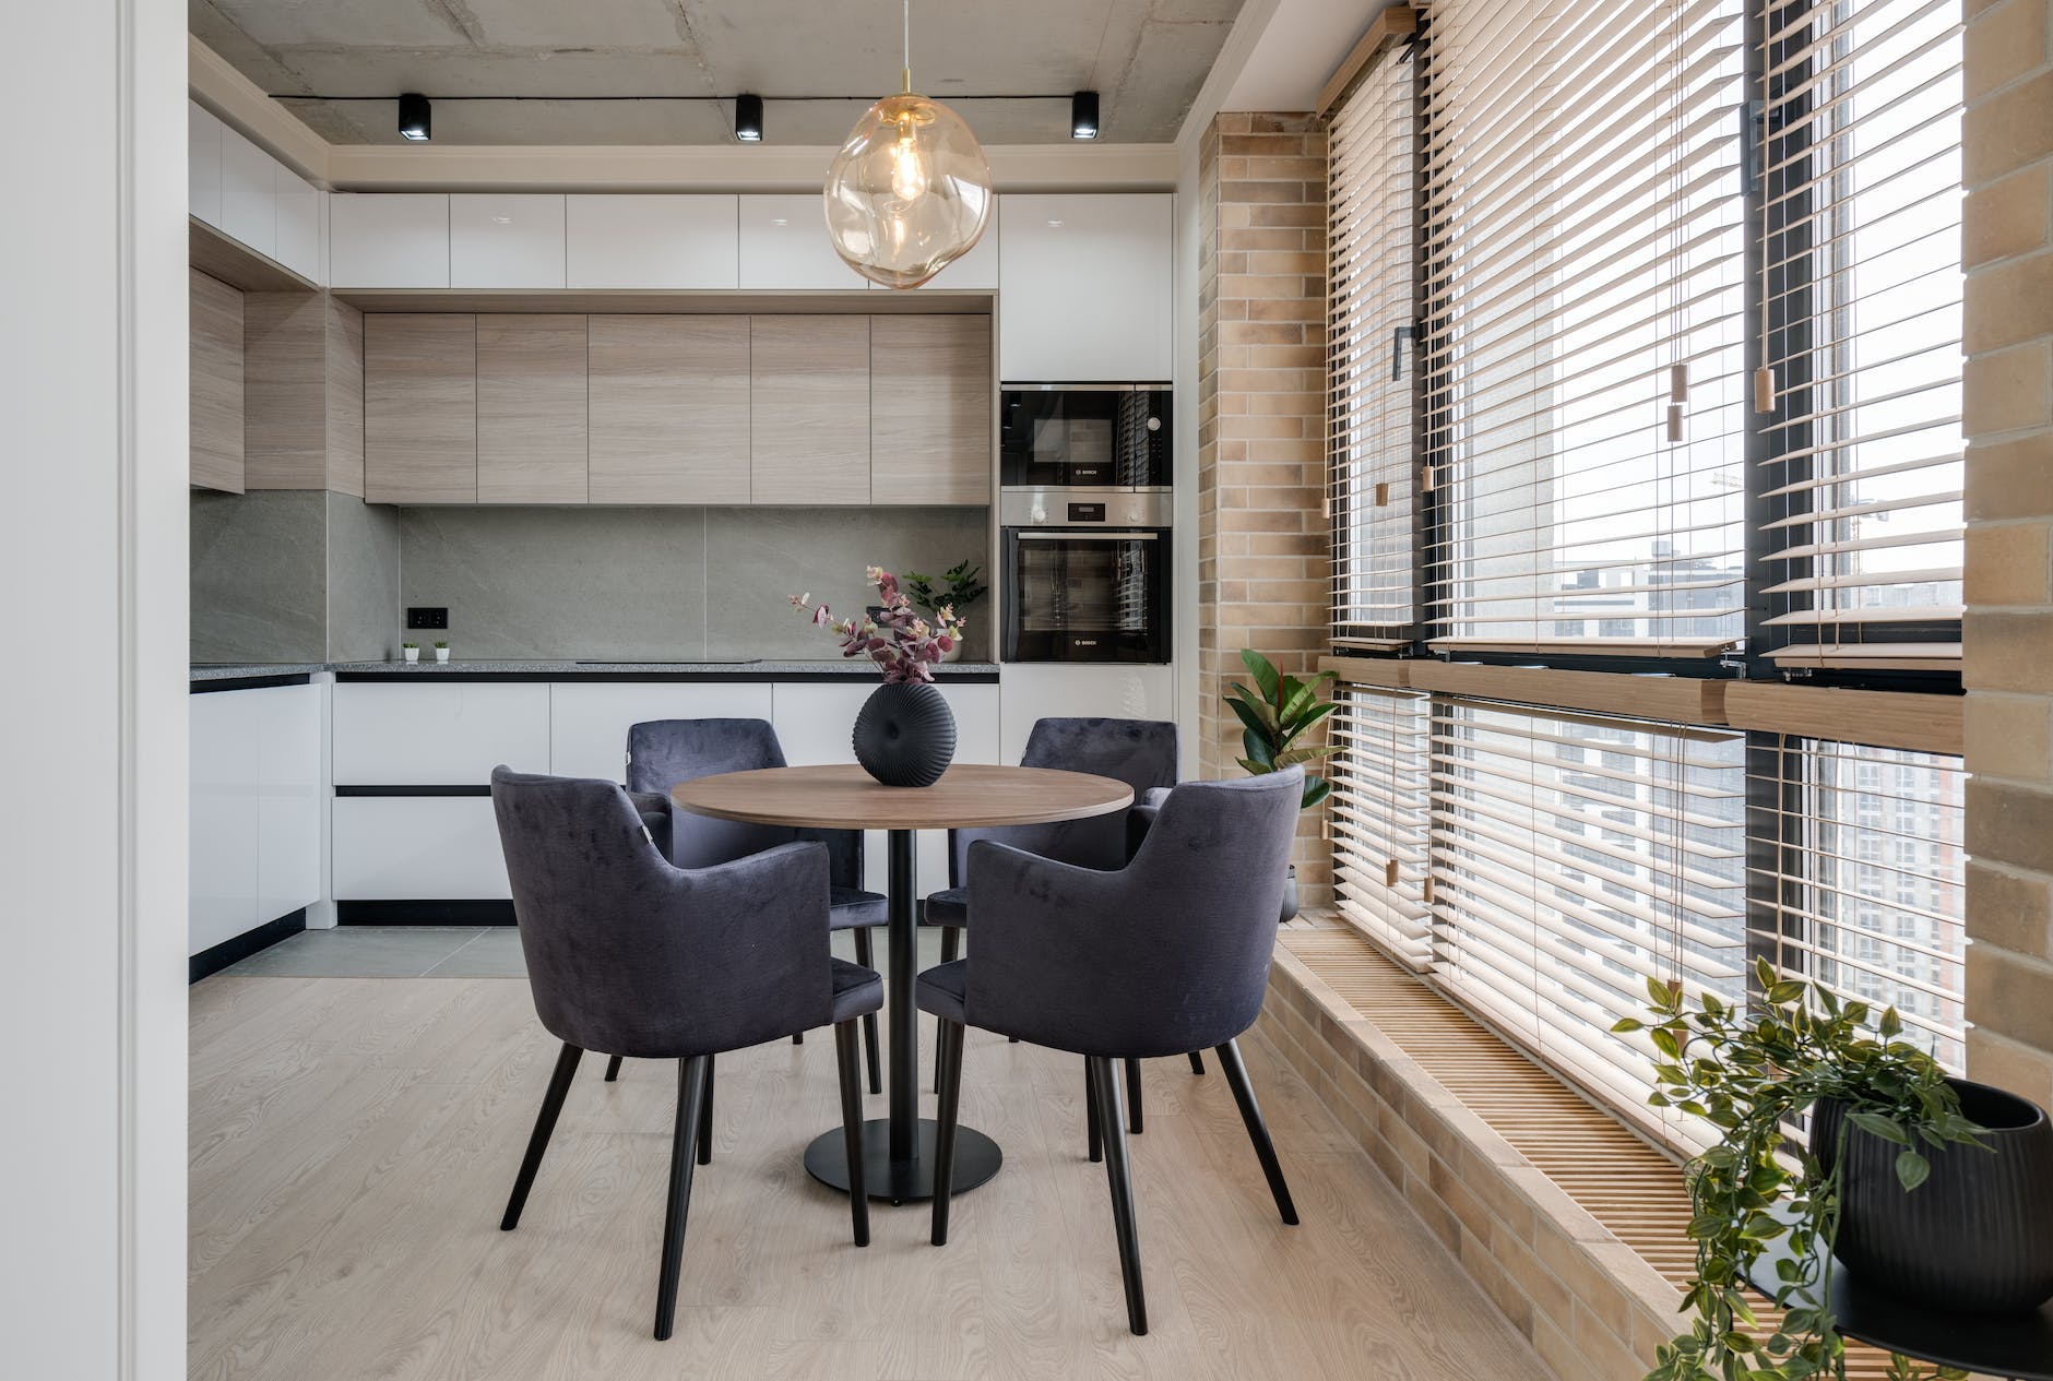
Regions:
[[[1683,1311],[1694,1319],[1657,1350],[1649,1381],[1844,1377],[1846,1344],[1829,1307],[1842,1260],[1862,1280],[1915,1291],[1905,1297],[1924,1303],[1942,1301],[1885,1278],[1883,1258],[1911,1258],[1936,1280],[1965,1272],[1973,1291],[1991,1278],[1981,1258],[1993,1254],[1998,1274],[2037,1272],[2053,1291],[2045,1225],[2032,1221],[2043,1213],[2020,1211],[2010,1215],[2014,1227],[1983,1233],[1969,1231],[1965,1211],[1948,1215],[1952,1205],[1979,1200],[1973,1219],[1989,1221],[2006,1176],[2012,1196],[2035,1176],[2045,1184],[2045,1114],[2000,1090],[1948,1079],[1932,1055],[1901,1038],[1895,1008],[1876,1016],[1868,1003],[1784,979],[1766,958],[1755,983],[1757,995],[1735,1005],[1714,993],[1686,999],[1679,985],[1649,979],[1651,1020],[1614,1026],[1644,1030],[1653,1044],[1649,1102],[1702,1116],[1720,1133],[1688,1170],[1696,1274]],[[1963,1096],[1977,1116],[2016,1127],[1969,1120]],[[1811,1137],[1792,1143],[1788,1129],[1807,1114]],[[1907,1211],[1913,1194],[1924,1198]],[[1876,1266],[1850,1256],[1856,1233],[1885,1244]],[[1749,1305],[1749,1278],[1776,1283],[1778,1326],[1764,1326]],[[2032,1289],[2024,1285],[2026,1295]],[[1891,1371],[1897,1381],[1965,1375],[1903,1356]]]

